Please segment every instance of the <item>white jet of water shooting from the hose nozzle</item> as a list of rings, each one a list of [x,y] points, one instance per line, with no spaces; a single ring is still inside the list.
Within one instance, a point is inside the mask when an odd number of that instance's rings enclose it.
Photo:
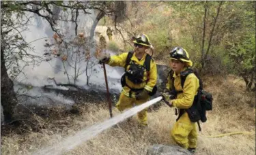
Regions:
[[[126,118],[129,118],[134,114],[137,114],[139,111],[142,111],[146,107],[150,107],[150,105],[153,105],[161,100],[162,100],[162,97],[156,97],[155,99],[147,101],[146,103],[143,103],[136,107],[132,107],[131,109],[124,111],[124,113],[119,114],[118,116],[115,116],[109,120],[105,120],[100,124],[95,124],[93,126],[90,126],[89,128],[84,128],[81,131],[78,131],[75,135],[66,137],[59,143],[56,143],[55,145],[51,145],[47,148],[42,148],[41,150],[38,150],[33,154],[36,154],[36,155],[63,154],[63,152],[67,152],[68,150],[74,149],[76,146],[80,145],[81,143],[84,143],[85,141],[88,141],[89,139],[96,137],[96,135],[106,130],[107,128],[110,128],[111,126],[119,122],[122,122]]]

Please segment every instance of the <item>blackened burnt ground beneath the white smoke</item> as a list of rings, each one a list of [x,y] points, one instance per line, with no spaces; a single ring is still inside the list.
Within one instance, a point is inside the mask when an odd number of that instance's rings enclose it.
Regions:
[[[49,97],[40,97],[40,99],[29,99],[30,97],[26,97],[27,100],[31,102],[31,100],[39,101],[44,100],[48,101],[48,105],[40,105],[37,103],[33,104],[24,104],[18,105],[18,114],[20,116],[26,117],[26,114],[37,114],[40,117],[46,118],[50,116],[53,109],[59,109],[61,108],[65,113],[70,114],[79,114],[78,106],[79,105],[85,105],[85,104],[96,104],[99,106],[102,106],[102,103],[105,103],[107,101],[106,98],[106,90],[94,90],[93,88],[89,90],[85,89],[78,89],[78,90],[60,90],[60,89],[53,89],[48,87],[42,87],[42,90],[47,93],[56,94],[57,96],[63,97],[63,100],[73,100],[74,104],[65,104],[65,103],[59,103],[59,101],[55,101],[54,99],[51,99]],[[115,105],[115,102],[117,101],[119,94],[115,92],[110,93],[112,105]],[[47,98],[47,99],[42,99]],[[107,102],[106,102],[107,103]]]

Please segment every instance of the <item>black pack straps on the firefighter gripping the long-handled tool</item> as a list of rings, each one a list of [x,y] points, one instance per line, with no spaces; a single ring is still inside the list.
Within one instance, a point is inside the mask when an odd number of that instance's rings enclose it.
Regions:
[[[131,61],[133,53],[134,53],[133,51],[128,52],[128,56],[126,58],[126,65],[124,65],[125,73],[124,73],[124,75],[122,75],[122,78],[121,78],[122,87],[128,86],[126,84],[126,70],[127,70],[128,65],[130,64],[130,61]],[[150,63],[151,63],[151,60],[152,60],[152,56],[150,56],[150,54],[147,54],[146,57],[145,57],[145,62],[143,64],[143,66],[145,67],[145,69],[147,71],[147,82],[150,79]],[[128,88],[130,88],[130,86],[128,86]],[[130,88],[130,90],[134,91],[134,92],[139,92],[139,91],[141,91],[143,89],[144,88],[141,88],[141,89]],[[157,91],[157,86],[154,86],[152,92],[149,92],[149,95],[153,96],[154,94],[156,94],[156,91]]]

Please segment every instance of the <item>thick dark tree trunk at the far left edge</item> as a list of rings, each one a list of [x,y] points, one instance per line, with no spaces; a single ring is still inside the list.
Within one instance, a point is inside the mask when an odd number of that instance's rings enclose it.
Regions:
[[[5,67],[3,51],[4,48],[1,46],[1,105],[3,106],[4,120],[9,122],[14,119],[14,107],[18,101],[14,92],[14,82],[9,78]]]

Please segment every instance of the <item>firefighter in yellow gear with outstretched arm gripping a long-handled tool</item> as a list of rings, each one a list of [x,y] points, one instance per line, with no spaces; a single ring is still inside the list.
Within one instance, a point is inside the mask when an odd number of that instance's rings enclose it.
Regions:
[[[150,92],[155,91],[157,81],[156,63],[150,57],[150,71],[145,69],[145,60],[149,56],[145,50],[153,48],[147,35],[139,35],[132,39],[134,43],[134,51],[130,58],[130,62],[126,66],[126,58],[129,52],[124,52],[115,56],[104,56],[100,59],[100,63],[107,63],[111,66],[124,67],[126,72],[122,77],[122,92],[119,101],[116,104],[119,111],[132,107],[133,104],[141,105],[150,99]],[[125,84],[124,84],[125,83]],[[147,126],[147,109],[137,114],[139,122],[143,126]]]

